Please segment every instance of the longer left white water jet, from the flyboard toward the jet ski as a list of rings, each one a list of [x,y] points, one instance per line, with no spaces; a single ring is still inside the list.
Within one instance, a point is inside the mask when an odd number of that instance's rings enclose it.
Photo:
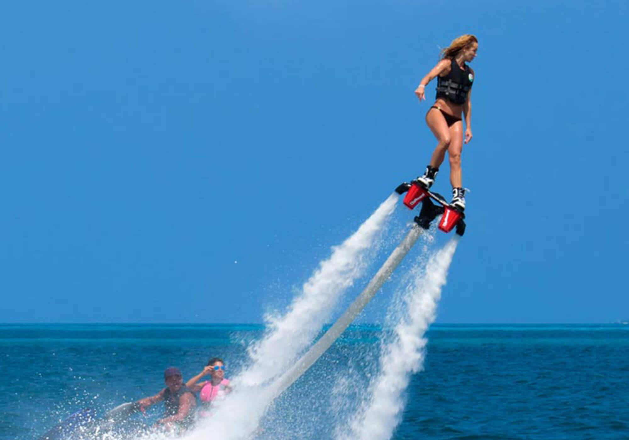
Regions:
[[[391,194],[360,228],[333,248],[328,260],[304,283],[284,316],[270,319],[265,337],[249,349],[251,365],[233,378],[234,391],[221,402],[213,417],[186,440],[211,437],[245,439],[255,434],[260,419],[277,396],[265,382],[283,373],[312,343],[338,299],[367,267],[369,250],[394,211],[399,195]]]

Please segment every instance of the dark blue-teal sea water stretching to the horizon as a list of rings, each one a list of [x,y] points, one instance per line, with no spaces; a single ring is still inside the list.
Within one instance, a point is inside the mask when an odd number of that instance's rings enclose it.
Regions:
[[[34,439],[79,409],[102,414],[154,395],[167,366],[187,379],[220,356],[230,377],[263,334],[238,324],[0,325],[0,439]],[[269,408],[257,437],[334,438],[387,368],[388,337],[350,327]],[[629,326],[435,324],[426,338],[392,438],[629,438]]]

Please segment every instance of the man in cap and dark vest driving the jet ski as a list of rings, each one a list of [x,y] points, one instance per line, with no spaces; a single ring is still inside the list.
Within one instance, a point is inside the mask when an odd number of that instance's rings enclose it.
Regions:
[[[164,401],[164,417],[159,419],[157,426],[164,426],[166,429],[181,427],[187,429],[194,422],[194,407],[196,407],[196,397],[184,385],[184,379],[179,368],[171,366],[164,371],[164,382],[166,388],[152,397],[145,397],[138,400],[140,409],[144,412],[145,407],[155,405]]]

